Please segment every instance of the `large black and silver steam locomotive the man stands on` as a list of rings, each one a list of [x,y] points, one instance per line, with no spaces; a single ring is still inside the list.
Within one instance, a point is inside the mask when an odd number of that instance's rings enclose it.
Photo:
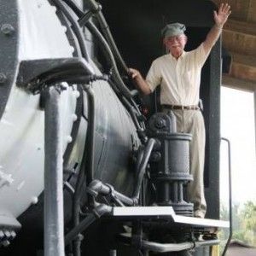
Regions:
[[[218,220],[221,42],[201,76],[206,219],[186,201],[190,135],[177,133],[172,112],[159,113],[157,91],[137,93],[124,59],[146,73],[172,21],[187,25],[195,48],[214,8],[1,1],[1,255],[211,254],[216,230],[229,227]]]

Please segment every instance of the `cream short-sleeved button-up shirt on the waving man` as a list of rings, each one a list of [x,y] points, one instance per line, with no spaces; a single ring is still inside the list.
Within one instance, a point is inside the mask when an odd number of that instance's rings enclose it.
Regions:
[[[161,85],[160,103],[172,105],[197,105],[201,83],[201,67],[209,52],[203,44],[197,49],[183,54],[176,60],[171,54],[163,55],[153,61],[146,81],[153,91]]]

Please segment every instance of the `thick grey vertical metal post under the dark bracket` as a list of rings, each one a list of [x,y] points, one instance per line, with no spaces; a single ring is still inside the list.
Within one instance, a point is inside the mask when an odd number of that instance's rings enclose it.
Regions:
[[[44,256],[64,256],[60,92],[50,87],[44,108]]]

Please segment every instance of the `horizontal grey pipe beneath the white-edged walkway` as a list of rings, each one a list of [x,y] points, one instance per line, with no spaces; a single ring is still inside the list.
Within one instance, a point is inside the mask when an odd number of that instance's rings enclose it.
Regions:
[[[142,241],[143,249],[156,253],[169,253],[169,252],[180,252],[184,250],[190,250],[194,247],[210,247],[217,245],[219,240],[207,240],[207,241],[187,241],[181,243],[166,243],[162,244],[154,241]]]

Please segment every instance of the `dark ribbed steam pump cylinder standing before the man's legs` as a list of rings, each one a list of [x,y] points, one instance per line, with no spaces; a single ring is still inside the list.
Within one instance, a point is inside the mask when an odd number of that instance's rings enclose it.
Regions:
[[[193,204],[183,199],[184,186],[193,179],[189,174],[191,135],[176,132],[176,118],[172,112],[155,113],[149,119],[149,131],[150,137],[159,141],[152,156],[155,203],[172,206],[177,214],[193,216]]]

